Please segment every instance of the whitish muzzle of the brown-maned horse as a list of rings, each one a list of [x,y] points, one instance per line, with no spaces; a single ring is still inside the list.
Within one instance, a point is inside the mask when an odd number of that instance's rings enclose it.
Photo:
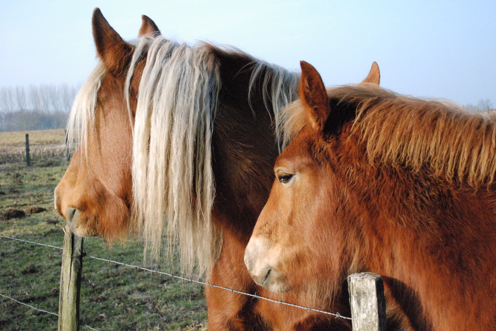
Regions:
[[[281,251],[271,247],[263,237],[252,236],[245,250],[245,265],[253,281],[269,291],[285,293],[290,290],[284,273],[277,268]]]

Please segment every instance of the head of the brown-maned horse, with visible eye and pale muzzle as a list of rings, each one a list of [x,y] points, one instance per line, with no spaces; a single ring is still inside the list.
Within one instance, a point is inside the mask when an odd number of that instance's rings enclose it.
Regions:
[[[269,199],[245,251],[245,264],[253,280],[273,292],[306,292],[302,286],[311,288],[315,281],[319,286],[325,283],[322,274],[343,273],[339,268],[322,269],[323,265],[313,263],[311,256],[324,254],[331,260],[342,257],[343,252],[326,253],[330,252],[329,237],[321,229],[328,227],[326,219],[339,209],[341,200],[332,196],[339,190],[329,189],[337,181],[332,164],[327,164],[331,163],[325,152],[328,137],[340,129],[347,117],[331,110],[318,72],[304,61],[301,67],[300,101],[290,105],[294,118],[289,122],[295,126],[294,137],[276,160]],[[378,66],[373,62],[362,84],[378,85],[379,77]],[[294,106],[299,109],[293,109]],[[335,288],[338,284],[329,286]]]

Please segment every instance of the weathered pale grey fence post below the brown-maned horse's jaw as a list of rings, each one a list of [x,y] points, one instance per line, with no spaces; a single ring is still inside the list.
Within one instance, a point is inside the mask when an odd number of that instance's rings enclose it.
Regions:
[[[353,331],[385,331],[384,284],[379,275],[360,273],[348,276]]]

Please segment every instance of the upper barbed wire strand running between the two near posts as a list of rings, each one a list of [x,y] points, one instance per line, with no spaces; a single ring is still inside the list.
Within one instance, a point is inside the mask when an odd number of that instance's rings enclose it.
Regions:
[[[14,238],[14,237],[9,237],[9,236],[2,236],[2,235],[0,235],[0,237],[6,238],[6,239],[12,239],[12,240],[17,240],[17,241],[22,241],[22,242],[27,242],[27,243],[32,243],[32,244],[36,244],[36,245],[42,245],[42,246],[47,246],[47,247],[62,249],[62,247],[57,247],[57,246],[53,246],[53,245],[47,245],[47,244],[39,243],[39,242],[36,242],[36,241],[23,240],[23,239],[19,239],[19,238]],[[109,263],[119,264],[119,265],[130,267],[130,268],[135,268],[135,269],[138,269],[138,270],[143,270],[143,271],[148,271],[148,272],[152,272],[152,273],[157,273],[157,274],[160,274],[160,275],[165,275],[165,276],[168,276],[168,277],[171,277],[171,278],[180,279],[180,280],[183,280],[183,281],[186,281],[186,282],[190,282],[190,283],[196,283],[196,284],[206,285],[206,286],[210,286],[210,287],[216,287],[216,288],[224,289],[226,291],[230,291],[231,293],[238,293],[238,294],[242,294],[242,295],[247,295],[247,296],[250,296],[250,297],[253,297],[253,298],[257,298],[257,299],[260,299],[260,300],[265,300],[265,301],[277,303],[277,304],[280,304],[280,305],[286,305],[286,306],[290,306],[290,307],[305,309],[308,312],[321,313],[321,314],[325,314],[325,315],[334,316],[335,318],[342,318],[342,319],[345,319],[345,320],[351,320],[351,317],[343,316],[343,315],[339,314],[338,312],[331,313],[331,312],[328,312],[328,311],[325,311],[325,310],[319,310],[319,309],[315,309],[315,308],[304,307],[304,306],[296,305],[296,304],[293,304],[293,303],[284,302],[284,301],[281,301],[281,300],[278,301],[278,300],[270,299],[270,298],[267,298],[267,297],[264,297],[264,296],[260,296],[260,295],[257,295],[257,294],[246,293],[246,292],[243,292],[243,291],[238,291],[238,290],[233,289],[233,288],[224,287],[224,286],[220,286],[220,285],[216,285],[216,284],[210,284],[210,283],[202,282],[202,281],[197,281],[197,280],[194,280],[194,279],[190,279],[190,278],[186,278],[186,277],[182,277],[182,276],[173,275],[173,274],[170,274],[170,273],[167,273],[167,272],[164,272],[164,271],[158,271],[158,270],[153,270],[153,269],[149,269],[149,268],[145,268],[145,267],[135,266],[135,265],[127,264],[127,263],[124,263],[124,262],[114,261],[114,260],[110,260],[110,259],[104,259],[104,258],[101,258],[101,257],[91,256],[91,255],[87,255],[87,254],[84,254],[83,256],[88,257],[88,258],[91,258],[91,259],[95,259],[95,260],[100,260],[100,261],[105,261],[105,262],[109,262]]]

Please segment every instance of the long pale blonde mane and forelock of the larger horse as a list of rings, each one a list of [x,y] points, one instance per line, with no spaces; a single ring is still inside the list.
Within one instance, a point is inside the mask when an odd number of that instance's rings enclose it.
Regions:
[[[144,234],[145,246],[161,251],[179,243],[183,270],[208,274],[220,253],[222,234],[211,219],[215,196],[211,139],[221,88],[214,49],[249,55],[234,48],[200,43],[194,46],[162,36],[141,37],[127,72],[124,95],[133,127],[133,224]],[[130,84],[137,63],[146,56],[135,115],[130,108]],[[249,57],[251,58],[251,57]],[[250,91],[260,80],[263,95],[277,120],[280,109],[296,98],[299,75],[252,59]],[[97,93],[105,68],[99,64],[79,92],[71,110],[68,132],[86,142],[93,125]],[[270,83],[269,83],[270,82]],[[270,84],[270,85],[269,85]],[[279,121],[277,121],[279,123]],[[280,137],[276,125],[276,136]],[[171,250],[169,250],[171,253]]]

